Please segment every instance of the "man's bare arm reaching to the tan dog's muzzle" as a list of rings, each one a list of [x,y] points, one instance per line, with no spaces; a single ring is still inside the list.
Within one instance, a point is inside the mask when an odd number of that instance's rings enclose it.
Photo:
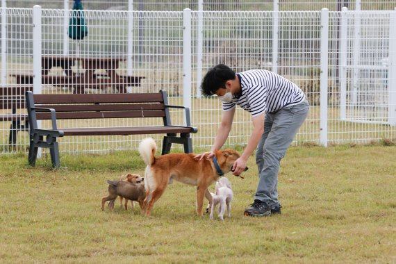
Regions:
[[[251,121],[253,122],[253,131],[251,132],[249,142],[247,142],[247,146],[243,151],[242,156],[240,156],[240,158],[238,158],[238,160],[233,163],[234,175],[239,175],[243,172],[243,170],[245,170],[247,158],[249,158],[254,149],[256,149],[258,142],[264,133],[264,117],[265,114],[251,117]]]

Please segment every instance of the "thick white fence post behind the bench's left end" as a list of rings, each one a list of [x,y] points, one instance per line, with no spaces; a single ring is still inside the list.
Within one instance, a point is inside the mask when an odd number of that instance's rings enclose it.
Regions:
[[[33,94],[41,94],[41,6],[33,6]],[[41,120],[37,122],[41,127]],[[38,149],[38,158],[41,157],[41,148]]]

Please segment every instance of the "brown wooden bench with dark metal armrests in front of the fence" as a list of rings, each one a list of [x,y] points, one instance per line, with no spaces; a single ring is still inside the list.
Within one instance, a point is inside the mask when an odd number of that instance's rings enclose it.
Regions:
[[[141,135],[166,134],[162,154],[170,151],[172,143],[183,144],[185,153],[192,152],[190,110],[184,106],[170,106],[165,90],[158,93],[136,94],[33,94],[26,92],[26,108],[30,124],[28,162],[35,165],[39,147],[49,148],[53,167],[59,167],[57,138],[68,135]],[[173,126],[170,108],[185,110],[186,126]],[[162,117],[163,126],[126,126],[58,129],[58,119]],[[37,120],[51,119],[52,129],[39,129]],[[180,136],[177,136],[180,133]],[[45,139],[44,139],[45,137]]]

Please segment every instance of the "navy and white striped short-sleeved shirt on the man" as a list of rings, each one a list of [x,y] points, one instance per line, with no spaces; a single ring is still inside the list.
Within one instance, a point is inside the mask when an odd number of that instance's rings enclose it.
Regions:
[[[251,113],[252,117],[274,113],[285,106],[302,103],[304,92],[288,79],[265,69],[253,69],[237,74],[240,93],[233,94],[232,101],[222,102],[224,111],[238,106]]]

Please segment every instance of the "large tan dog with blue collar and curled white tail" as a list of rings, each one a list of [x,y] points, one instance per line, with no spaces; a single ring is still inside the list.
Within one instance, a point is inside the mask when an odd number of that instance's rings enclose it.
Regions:
[[[215,158],[220,169],[220,172],[217,172],[213,160],[206,158],[199,160],[194,158],[196,154],[154,156],[156,150],[156,142],[152,138],[146,138],[140,142],[140,156],[147,165],[146,198],[143,205],[146,216],[151,214],[154,203],[163,194],[168,183],[172,183],[173,180],[197,186],[197,214],[202,215],[204,197],[208,199],[209,204],[212,204],[208,186],[217,181],[220,175],[230,172],[233,163],[240,157],[240,154],[233,149],[216,151]]]

